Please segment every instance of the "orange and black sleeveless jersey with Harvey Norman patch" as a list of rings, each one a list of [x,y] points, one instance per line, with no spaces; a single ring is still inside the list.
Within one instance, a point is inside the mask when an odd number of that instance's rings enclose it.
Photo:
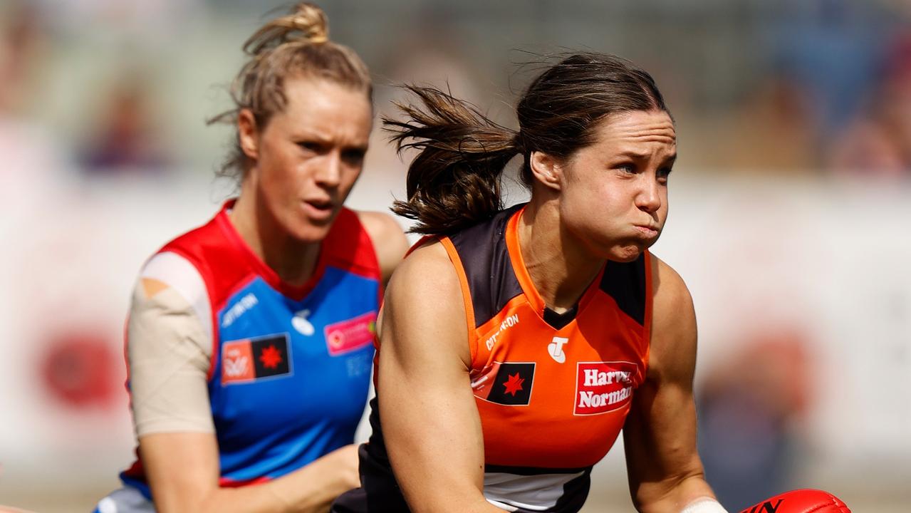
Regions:
[[[471,385],[484,433],[487,500],[507,511],[572,513],[614,444],[649,359],[650,255],[607,262],[578,304],[549,310],[519,251],[524,207],[440,241],[462,287]],[[379,348],[378,348],[379,349]],[[377,398],[361,446],[362,487],[333,513],[408,511],[385,451]]]

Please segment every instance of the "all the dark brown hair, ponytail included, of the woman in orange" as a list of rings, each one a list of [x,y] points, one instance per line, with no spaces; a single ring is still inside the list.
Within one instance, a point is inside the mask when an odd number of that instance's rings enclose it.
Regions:
[[[522,95],[518,133],[439,89],[407,87],[424,108],[399,104],[409,119],[384,119],[384,125],[400,151],[421,150],[408,168],[408,200],[393,206],[418,221],[412,231],[451,234],[492,217],[503,207],[500,175],[517,154],[525,158],[522,181],[530,186],[532,151],[569,159],[595,142],[594,128],[610,114],[668,112],[654,80],[630,61],[598,53],[562,57]]]

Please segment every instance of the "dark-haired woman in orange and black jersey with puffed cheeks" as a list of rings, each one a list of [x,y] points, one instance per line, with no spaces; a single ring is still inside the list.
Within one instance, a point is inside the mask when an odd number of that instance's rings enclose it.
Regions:
[[[517,132],[410,89],[423,108],[386,122],[421,150],[394,210],[430,237],[386,293],[362,488],[333,511],[578,511],[621,428],[636,508],[724,511],[696,450],[690,293],[648,251],[676,158],[652,78],[568,56]],[[531,199],[502,210],[517,155]]]

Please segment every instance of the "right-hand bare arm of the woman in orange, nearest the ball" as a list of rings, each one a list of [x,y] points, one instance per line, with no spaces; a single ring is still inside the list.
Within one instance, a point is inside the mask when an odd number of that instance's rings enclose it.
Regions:
[[[696,315],[680,275],[652,255],[654,306],[646,381],[623,427],[630,494],[643,513],[714,498],[696,448]]]

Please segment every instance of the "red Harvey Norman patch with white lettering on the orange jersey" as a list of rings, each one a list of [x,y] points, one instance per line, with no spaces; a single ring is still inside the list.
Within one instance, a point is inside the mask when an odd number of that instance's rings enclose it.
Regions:
[[[573,414],[603,414],[630,404],[637,372],[631,362],[578,362]]]

